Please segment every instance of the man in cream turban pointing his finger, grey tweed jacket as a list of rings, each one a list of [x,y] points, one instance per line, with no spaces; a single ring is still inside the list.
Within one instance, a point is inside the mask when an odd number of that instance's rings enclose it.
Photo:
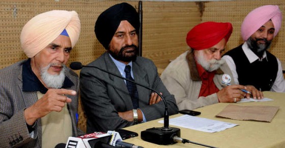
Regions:
[[[78,76],[65,66],[79,33],[75,11],[45,12],[24,25],[28,59],[0,70],[0,147],[54,147],[82,134]]]

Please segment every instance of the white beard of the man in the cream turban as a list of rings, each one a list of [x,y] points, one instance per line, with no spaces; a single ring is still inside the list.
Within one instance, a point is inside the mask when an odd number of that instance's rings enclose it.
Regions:
[[[63,82],[65,80],[65,70],[66,70],[66,66],[63,64],[63,69],[60,72],[60,75],[50,75],[47,70],[50,66],[55,65],[53,63],[47,65],[46,67],[43,67],[40,69],[41,71],[41,78],[43,80],[43,82],[45,83],[45,85],[48,88],[61,88],[63,86]]]

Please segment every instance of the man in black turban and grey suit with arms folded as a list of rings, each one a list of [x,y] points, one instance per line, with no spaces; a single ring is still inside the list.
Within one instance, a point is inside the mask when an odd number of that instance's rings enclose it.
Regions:
[[[127,3],[114,5],[98,17],[95,34],[106,52],[89,66],[97,66],[149,86],[166,100],[170,115],[178,113],[154,63],[137,57],[139,17]],[[87,132],[124,128],[163,117],[164,103],[150,90],[95,68],[80,72],[80,94],[87,115]]]

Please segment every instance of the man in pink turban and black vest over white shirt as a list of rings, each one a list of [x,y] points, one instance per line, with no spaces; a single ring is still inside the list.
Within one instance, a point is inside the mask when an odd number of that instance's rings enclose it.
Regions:
[[[267,51],[280,30],[281,21],[276,5],[256,8],[245,17],[241,25],[245,43],[223,56],[237,84],[253,85],[260,91],[285,92],[281,63]]]

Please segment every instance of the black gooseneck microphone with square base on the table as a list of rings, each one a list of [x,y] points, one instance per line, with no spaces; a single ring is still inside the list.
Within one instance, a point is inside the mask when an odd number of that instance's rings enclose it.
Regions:
[[[97,68],[101,71],[109,73],[112,76],[115,76],[115,77],[124,79],[126,81],[132,82],[136,85],[139,85],[141,87],[144,87],[146,89],[152,90],[155,93],[157,93],[161,97],[162,101],[164,102],[164,122],[163,122],[164,126],[160,127],[160,128],[149,128],[145,131],[141,131],[140,137],[141,137],[141,139],[143,139],[145,141],[156,143],[156,144],[162,144],[162,145],[168,145],[168,144],[173,144],[173,143],[177,142],[177,141],[174,141],[174,139],[172,137],[174,137],[174,136],[180,137],[180,129],[175,128],[175,127],[169,127],[169,113],[168,113],[167,103],[159,92],[157,92],[156,90],[154,90],[148,86],[145,86],[145,85],[139,84],[135,81],[126,79],[122,76],[119,76],[115,73],[109,72],[105,69],[99,68],[97,66],[82,65],[80,62],[71,62],[70,63],[70,68],[73,70],[79,70],[82,67]]]

